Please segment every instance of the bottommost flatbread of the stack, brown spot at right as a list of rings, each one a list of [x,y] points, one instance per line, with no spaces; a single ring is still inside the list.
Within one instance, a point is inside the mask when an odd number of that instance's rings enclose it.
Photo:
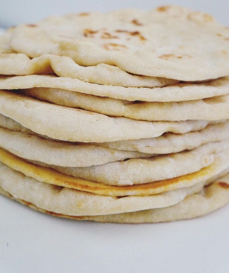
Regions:
[[[116,215],[112,214],[104,216],[81,217],[56,215],[55,213],[49,213],[47,211],[42,212],[76,220],[112,223],[157,223],[200,217],[225,206],[228,204],[228,202],[229,176],[226,175],[225,177],[219,178],[217,182],[205,187],[199,194],[190,195],[180,203],[166,208],[143,210]]]

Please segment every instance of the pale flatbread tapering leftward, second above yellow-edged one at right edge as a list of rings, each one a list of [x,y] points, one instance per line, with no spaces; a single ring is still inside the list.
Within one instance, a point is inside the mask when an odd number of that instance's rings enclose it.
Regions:
[[[141,153],[169,154],[191,150],[208,142],[226,139],[228,132],[229,122],[225,122],[209,124],[200,131],[185,134],[164,133],[157,138],[93,143],[93,145]]]

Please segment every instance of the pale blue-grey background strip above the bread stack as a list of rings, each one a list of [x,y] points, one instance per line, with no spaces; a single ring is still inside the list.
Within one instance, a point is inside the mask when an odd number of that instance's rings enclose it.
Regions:
[[[0,0],[0,25],[35,23],[49,15],[83,11],[109,11],[120,8],[153,8],[160,5],[184,5],[187,8],[213,14],[229,25],[228,0]]]

